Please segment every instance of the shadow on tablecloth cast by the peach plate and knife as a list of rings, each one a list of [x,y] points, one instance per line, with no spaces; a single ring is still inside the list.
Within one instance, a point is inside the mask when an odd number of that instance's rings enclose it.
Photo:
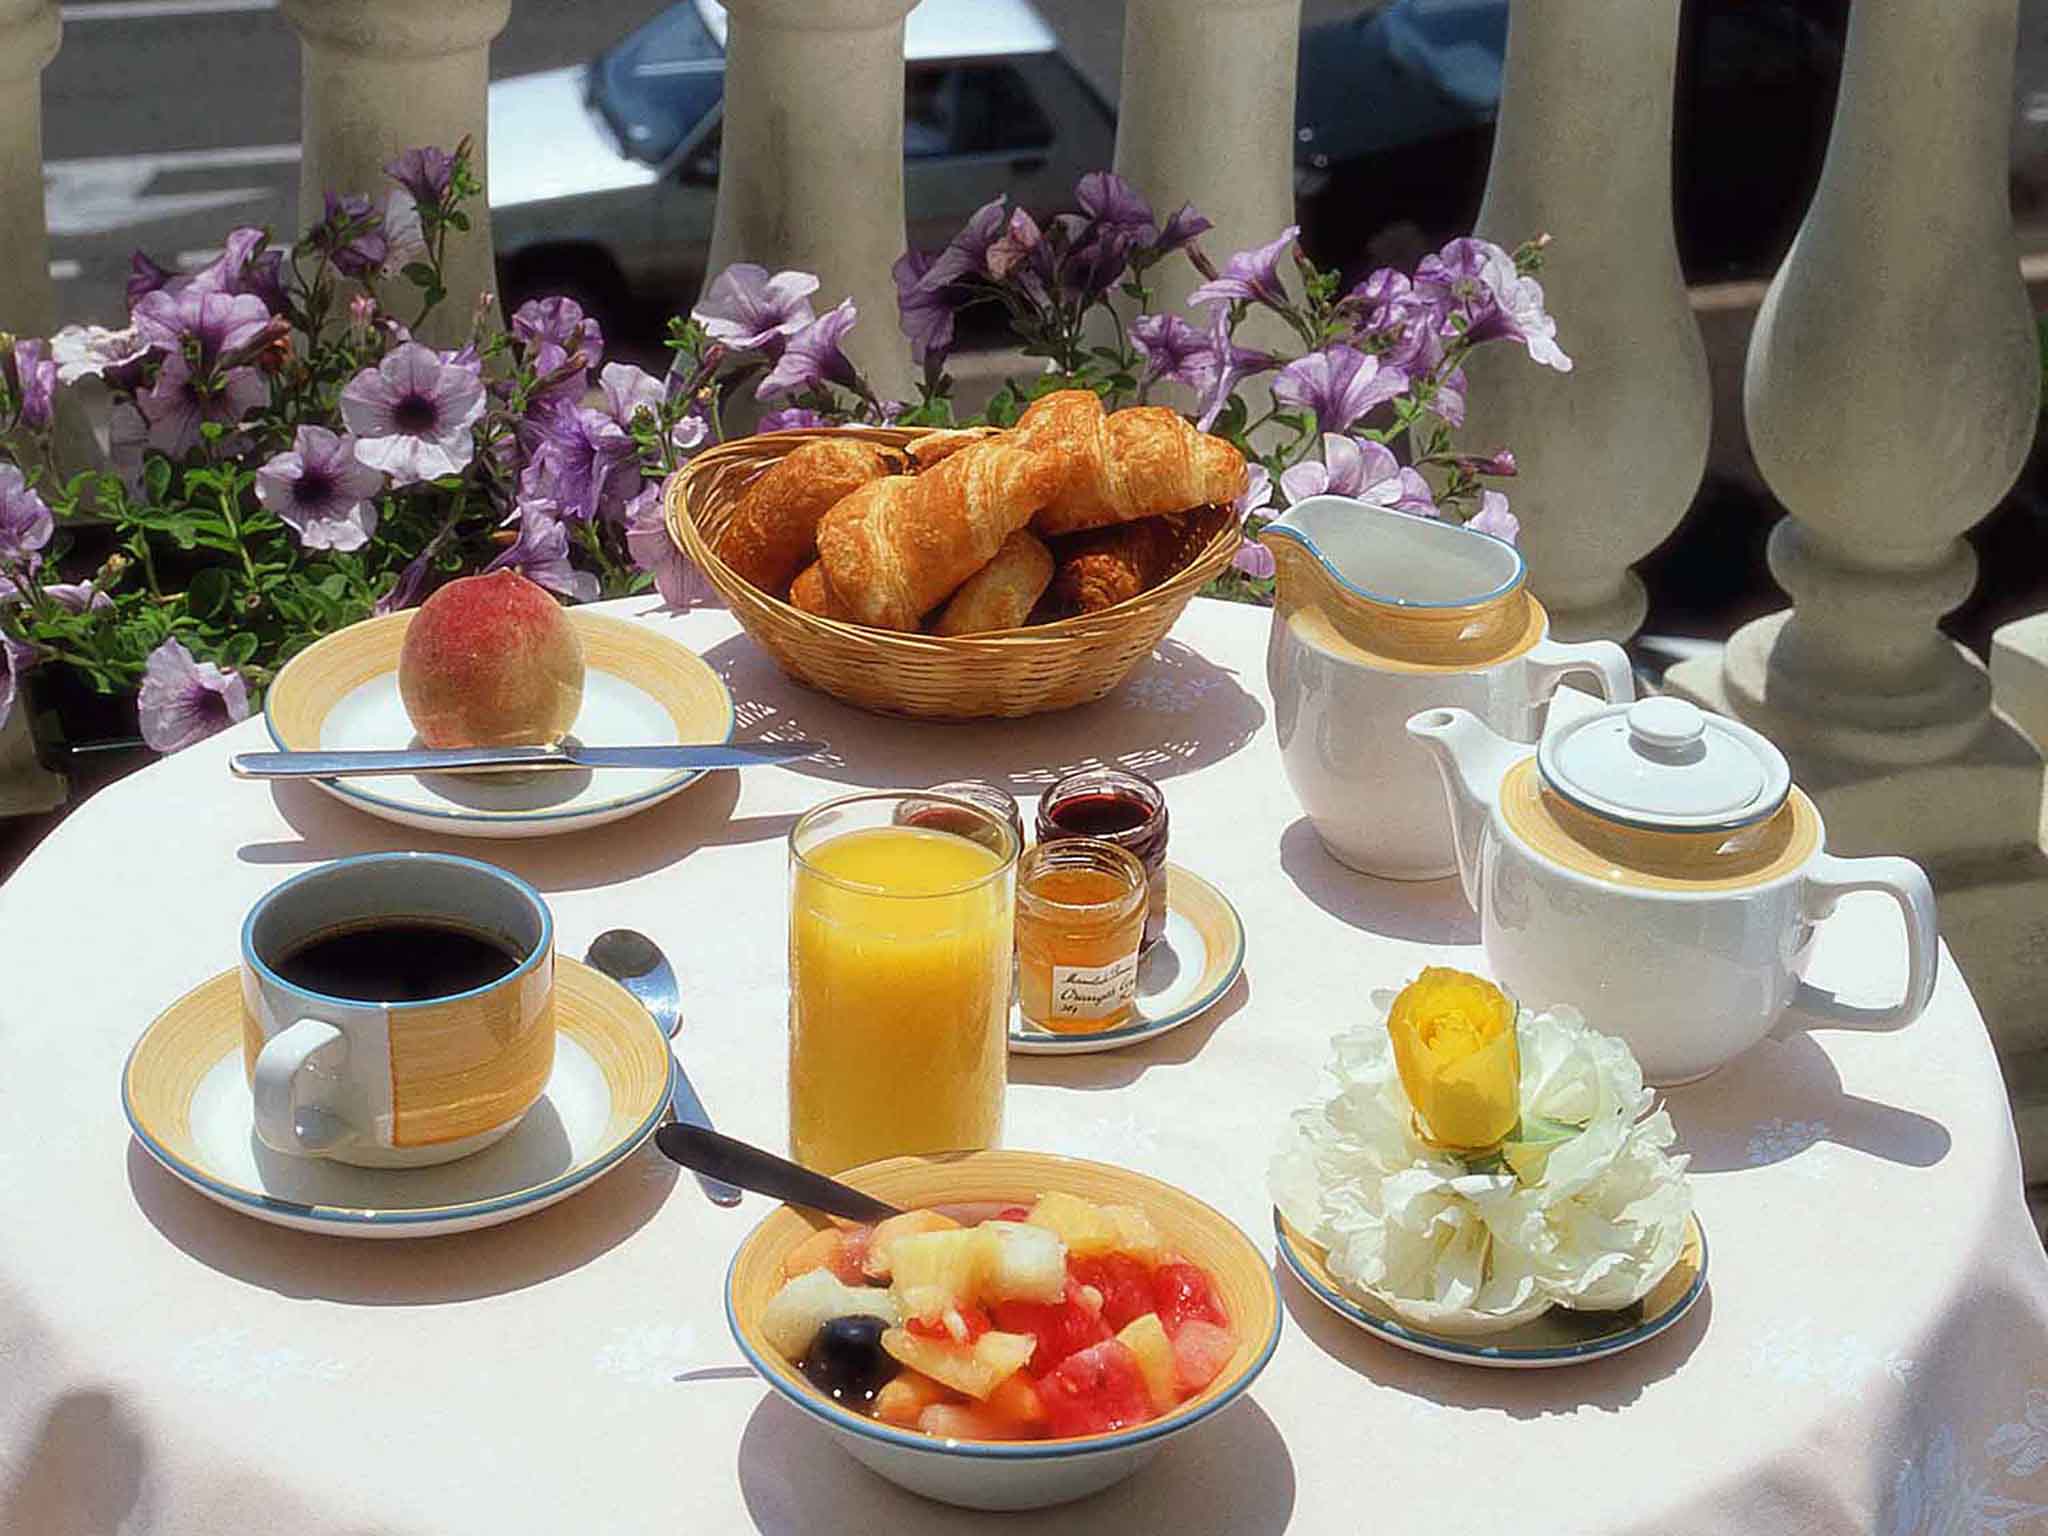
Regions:
[[[676,799],[604,827],[559,838],[449,838],[381,821],[342,805],[313,784],[270,786],[276,813],[297,840],[250,842],[236,850],[244,864],[303,866],[350,854],[401,848],[485,858],[539,891],[586,891],[680,864],[698,848],[780,840],[793,815],[733,817],[739,774],[705,774]]]

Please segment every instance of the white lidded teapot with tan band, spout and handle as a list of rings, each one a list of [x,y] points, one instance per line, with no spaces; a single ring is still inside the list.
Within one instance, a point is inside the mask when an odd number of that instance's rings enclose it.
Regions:
[[[1559,725],[1534,754],[1462,709],[1425,709],[1407,729],[1438,756],[1495,979],[1628,1040],[1649,1081],[1704,1077],[1790,1006],[1858,1028],[1927,1008],[1927,877],[1905,858],[1825,852],[1815,803],[1747,725],[1645,698]],[[1817,924],[1849,891],[1884,891],[1905,913],[1894,1008],[1849,1008],[1802,981]]]

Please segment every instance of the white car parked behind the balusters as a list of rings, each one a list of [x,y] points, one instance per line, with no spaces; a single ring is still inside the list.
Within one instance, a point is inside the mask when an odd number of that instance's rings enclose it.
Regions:
[[[1006,193],[1036,213],[1110,164],[1108,104],[1026,0],[924,0],[903,41],[909,242],[942,246]],[[600,317],[684,307],[705,276],[725,106],[725,8],[684,0],[582,68],[489,96],[492,229],[508,301]]]

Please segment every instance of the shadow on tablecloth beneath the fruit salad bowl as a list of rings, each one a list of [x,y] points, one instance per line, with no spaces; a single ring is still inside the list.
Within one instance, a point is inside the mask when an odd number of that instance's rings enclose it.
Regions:
[[[1286,1530],[1294,1513],[1294,1460],[1257,1405],[1257,1386],[1206,1423],[1176,1436],[1124,1483],[1092,1499],[1018,1513],[977,1513],[920,1499],[831,1444],[825,1430],[780,1397],[764,1397],[739,1436],[739,1493],[770,1536],[889,1532],[950,1536],[961,1530],[1057,1536],[1249,1536]]]

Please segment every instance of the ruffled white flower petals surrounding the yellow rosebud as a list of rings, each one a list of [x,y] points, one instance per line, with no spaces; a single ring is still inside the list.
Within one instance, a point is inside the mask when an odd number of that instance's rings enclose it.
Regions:
[[[1692,1188],[1628,1047],[1571,1008],[1524,1010],[1522,1141],[1473,1171],[1415,1135],[1391,1004],[1372,993],[1372,1016],[1331,1040],[1335,1090],[1294,1114],[1272,1163],[1274,1204],[1329,1272],[1417,1327],[1466,1335],[1649,1294],[1677,1262]]]

